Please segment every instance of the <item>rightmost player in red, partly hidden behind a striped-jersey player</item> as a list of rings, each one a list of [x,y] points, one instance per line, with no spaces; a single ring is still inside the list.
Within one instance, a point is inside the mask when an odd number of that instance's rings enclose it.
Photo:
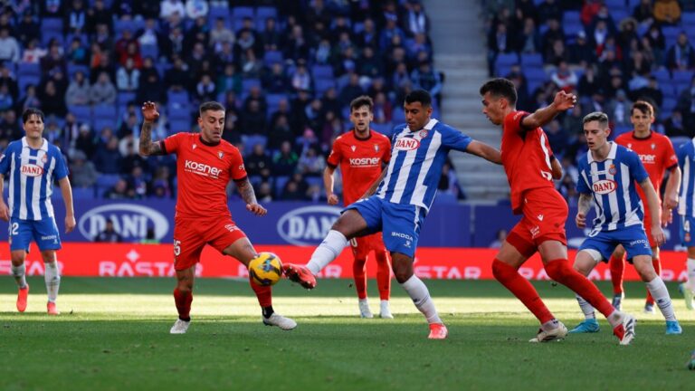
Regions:
[[[652,216],[648,208],[644,208],[644,226],[651,226],[652,217],[660,218],[662,225],[671,223],[671,210],[678,206],[678,190],[681,186],[681,168],[678,167],[678,157],[673,149],[671,140],[666,136],[652,131],[654,122],[654,108],[648,102],[638,100],[634,102],[630,112],[630,121],[634,129],[624,133],[615,142],[637,152],[644,168],[647,170],[652,185],[659,196],[659,203],[662,205],[662,215]],[[663,201],[659,189],[662,188],[663,174],[669,172],[669,180],[666,182]],[[647,204],[646,198],[641,187],[637,187],[640,199],[644,205]],[[647,231],[649,244],[652,246],[652,262],[657,275],[662,273],[662,262],[659,260],[659,246],[652,237],[651,230]],[[615,248],[611,260],[608,263],[611,269],[611,281],[613,281],[613,306],[620,310],[624,299],[623,272],[625,268],[625,250],[623,246]],[[644,312],[654,313],[654,299],[647,291],[647,300],[644,304]]]

